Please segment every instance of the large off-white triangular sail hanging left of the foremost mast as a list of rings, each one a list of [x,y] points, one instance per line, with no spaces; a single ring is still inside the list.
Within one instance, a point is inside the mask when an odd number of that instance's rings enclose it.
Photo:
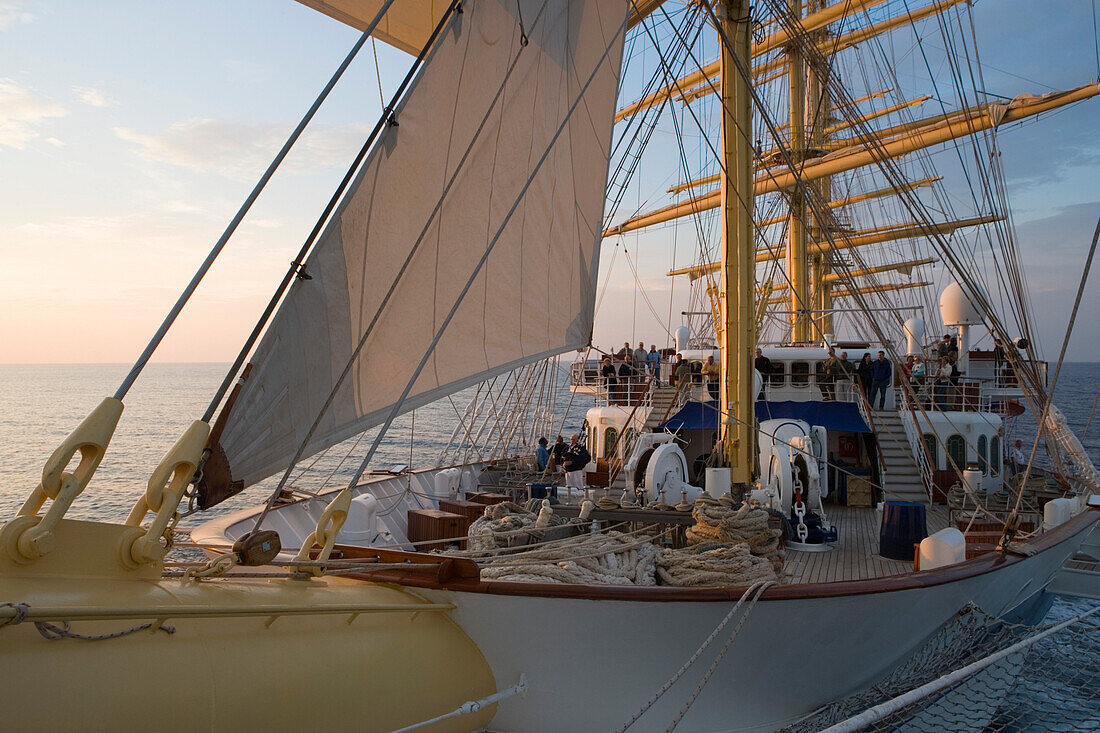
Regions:
[[[628,6],[463,3],[253,354],[219,441],[234,483],[322,409],[306,456],[382,423],[491,244],[403,409],[588,343]]]

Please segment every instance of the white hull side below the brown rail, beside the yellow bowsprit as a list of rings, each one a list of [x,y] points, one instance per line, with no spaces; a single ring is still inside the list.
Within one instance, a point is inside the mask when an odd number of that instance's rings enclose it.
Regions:
[[[676,731],[772,731],[856,692],[906,659],[967,604],[1011,615],[1043,591],[1077,540],[979,576],[904,591],[761,600]],[[818,586],[826,588],[827,586]],[[695,652],[732,602],[638,602],[427,590],[498,683],[528,691],[501,704],[492,731],[617,730]],[[664,731],[734,624],[630,731]]]

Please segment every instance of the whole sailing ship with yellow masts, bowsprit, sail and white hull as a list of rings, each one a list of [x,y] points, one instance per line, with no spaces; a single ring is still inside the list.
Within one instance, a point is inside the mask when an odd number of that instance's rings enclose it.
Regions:
[[[363,31],[352,56],[373,35],[416,61],[127,521],[65,514],[109,459],[130,385],[323,95],[119,392],[0,529],[8,720],[776,730],[875,683],[968,608],[1043,612],[1046,582],[1100,518],[1097,473],[1050,405],[1026,309],[994,307],[1022,304],[1022,283],[994,297],[948,239],[983,227],[1014,266],[998,171],[982,211],[946,222],[917,196],[938,177],[912,173],[922,151],[994,150],[998,127],[1096,84],[915,118],[920,97],[842,83],[842,53],[949,10],[966,22],[959,0],[302,2]],[[638,44],[660,64],[616,109]],[[670,190],[686,198],[624,219],[676,105],[700,125],[707,171]],[[888,200],[911,219],[856,227]],[[631,359],[612,383],[592,352],[601,245],[678,219],[696,222],[701,248],[672,272],[700,304],[676,347],[714,357],[717,379]],[[923,255],[871,254],[898,241]],[[879,280],[936,262],[952,282],[935,297],[931,281]],[[928,355],[932,322],[955,335],[961,375],[899,378],[906,353]],[[979,348],[987,330],[996,353]],[[844,350],[894,364],[873,385],[878,409],[837,370]],[[531,395],[571,351],[571,387],[594,401],[575,495],[514,455],[517,435],[550,425]],[[495,453],[369,472],[397,416],[494,379],[455,437]],[[1018,406],[1050,456],[1037,483],[1031,469],[1004,480]],[[346,486],[290,481],[370,429]],[[273,475],[266,504],[193,532],[209,561],[166,568],[182,512]],[[891,534],[902,515],[922,530]],[[888,541],[904,559],[879,553]],[[166,672],[187,681],[168,688]],[[63,699],[43,704],[44,686]]]

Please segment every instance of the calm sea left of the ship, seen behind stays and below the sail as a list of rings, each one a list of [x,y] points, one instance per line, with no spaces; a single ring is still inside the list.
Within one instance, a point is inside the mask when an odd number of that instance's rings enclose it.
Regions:
[[[88,488],[66,516],[122,521],[145,490],[145,482],[173,442],[201,417],[229,364],[153,363],[138,379],[124,403],[107,456]],[[45,460],[99,402],[125,376],[125,364],[0,364],[0,522],[13,515],[42,479]],[[556,425],[579,433],[591,398],[571,400],[568,371],[559,368],[552,404]],[[435,466],[474,389],[398,417],[383,438],[370,469],[405,463]],[[340,489],[359,468],[376,433],[333,446],[304,459],[289,485],[307,491]],[[551,441],[556,436],[547,436]],[[534,455],[535,447],[531,446]],[[180,523],[194,527],[219,514],[262,504],[278,483],[272,477],[209,512]]]

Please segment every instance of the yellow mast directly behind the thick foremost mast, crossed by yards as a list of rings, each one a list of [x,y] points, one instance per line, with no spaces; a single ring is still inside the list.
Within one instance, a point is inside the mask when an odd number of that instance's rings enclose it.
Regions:
[[[802,0],[789,0],[791,17],[802,20]],[[791,156],[795,165],[806,151],[806,64],[798,41],[788,46],[787,59],[790,89]],[[824,199],[822,199],[824,200]],[[790,280],[791,342],[806,343],[810,340],[810,273],[806,259],[806,201],[799,188],[791,192],[791,209],[787,228],[787,276]]]

